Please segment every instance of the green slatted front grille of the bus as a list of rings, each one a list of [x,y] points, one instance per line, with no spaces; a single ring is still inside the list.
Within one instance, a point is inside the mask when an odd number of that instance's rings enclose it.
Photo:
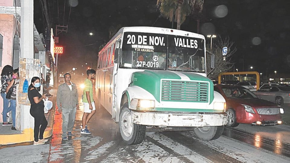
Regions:
[[[161,101],[208,102],[209,83],[162,80]]]

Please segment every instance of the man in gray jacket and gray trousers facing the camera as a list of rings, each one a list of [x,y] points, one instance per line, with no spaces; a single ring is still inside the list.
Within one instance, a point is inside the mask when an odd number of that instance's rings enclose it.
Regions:
[[[72,76],[64,74],[64,83],[57,89],[56,103],[58,112],[63,115],[63,140],[72,136],[72,128],[76,119],[76,109],[79,109],[79,94],[76,84],[70,82]]]

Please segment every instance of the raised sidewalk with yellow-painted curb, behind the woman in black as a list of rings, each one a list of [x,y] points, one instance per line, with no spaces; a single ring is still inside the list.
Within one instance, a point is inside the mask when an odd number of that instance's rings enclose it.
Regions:
[[[47,128],[44,131],[44,137],[50,137],[52,135],[52,128],[53,128],[53,118],[54,118],[54,112],[55,112],[55,104],[56,104],[56,92],[57,89],[51,89],[50,94],[53,95],[53,97],[49,97],[49,100],[53,102],[54,106],[52,109],[45,114],[45,117],[47,118]],[[33,134],[33,130],[31,132]],[[24,134],[24,131],[19,130],[11,130],[11,126],[0,126],[0,149],[7,147],[8,144],[15,144],[15,143],[22,143],[22,142],[29,142],[24,143],[23,145],[30,145],[33,142],[30,142],[31,135]],[[32,136],[33,137],[33,136]]]

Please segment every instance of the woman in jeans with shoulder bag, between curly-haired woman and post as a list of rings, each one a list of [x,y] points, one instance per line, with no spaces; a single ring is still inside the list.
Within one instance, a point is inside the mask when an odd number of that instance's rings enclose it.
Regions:
[[[13,126],[11,127],[12,130],[16,130],[15,128],[15,116],[16,116],[16,88],[19,84],[19,69],[14,69],[12,72],[12,80],[8,87],[6,88],[6,93],[9,91],[9,89],[12,87],[13,91],[10,98],[10,106],[8,107],[8,110],[11,110],[12,113],[12,121]]]

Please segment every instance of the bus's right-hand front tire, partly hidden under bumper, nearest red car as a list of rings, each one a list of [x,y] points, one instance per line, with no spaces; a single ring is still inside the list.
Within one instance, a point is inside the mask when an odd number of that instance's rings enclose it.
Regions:
[[[224,126],[208,126],[196,128],[193,130],[199,139],[215,140],[218,139],[224,132]]]

